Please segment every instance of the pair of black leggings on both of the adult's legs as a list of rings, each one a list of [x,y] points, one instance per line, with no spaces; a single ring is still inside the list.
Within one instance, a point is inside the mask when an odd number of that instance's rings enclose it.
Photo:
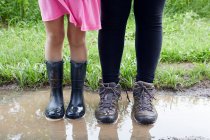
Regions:
[[[119,82],[125,29],[132,0],[101,0],[102,29],[99,55],[103,82]],[[152,83],[162,45],[162,13],[165,0],[134,0],[137,57],[136,81]]]

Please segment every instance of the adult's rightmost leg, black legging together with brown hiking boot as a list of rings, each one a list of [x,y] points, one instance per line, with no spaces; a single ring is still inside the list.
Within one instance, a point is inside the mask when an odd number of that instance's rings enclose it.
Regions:
[[[158,114],[153,105],[152,84],[162,44],[162,12],[165,0],[135,0],[137,76],[133,116],[138,123],[152,124]]]

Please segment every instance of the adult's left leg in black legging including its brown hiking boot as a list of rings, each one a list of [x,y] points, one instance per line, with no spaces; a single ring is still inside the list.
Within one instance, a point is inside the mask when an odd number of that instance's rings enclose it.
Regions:
[[[102,29],[99,31],[98,42],[103,84],[95,116],[99,122],[113,123],[118,118],[120,86],[117,83],[131,0],[102,0],[101,8]]]

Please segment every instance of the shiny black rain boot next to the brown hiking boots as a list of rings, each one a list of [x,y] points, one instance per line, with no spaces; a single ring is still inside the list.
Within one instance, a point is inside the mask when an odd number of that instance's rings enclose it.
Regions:
[[[87,62],[77,63],[71,60],[71,99],[66,110],[69,119],[81,118],[85,115],[83,87],[86,76]]]

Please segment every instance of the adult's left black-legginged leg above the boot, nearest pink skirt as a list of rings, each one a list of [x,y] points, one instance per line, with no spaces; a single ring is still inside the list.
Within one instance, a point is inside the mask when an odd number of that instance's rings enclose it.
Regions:
[[[104,83],[119,81],[119,69],[124,47],[127,19],[131,0],[102,0],[99,31],[99,55]]]

